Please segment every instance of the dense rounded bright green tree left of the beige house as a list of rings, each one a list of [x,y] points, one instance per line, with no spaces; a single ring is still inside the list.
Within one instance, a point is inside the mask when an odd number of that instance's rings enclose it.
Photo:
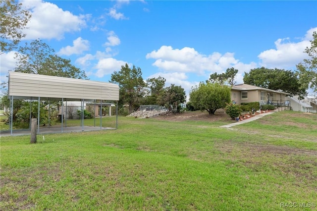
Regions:
[[[226,104],[230,103],[231,88],[219,83],[201,82],[199,86],[192,88],[189,96],[190,102],[195,108],[214,114],[217,109],[224,108]]]

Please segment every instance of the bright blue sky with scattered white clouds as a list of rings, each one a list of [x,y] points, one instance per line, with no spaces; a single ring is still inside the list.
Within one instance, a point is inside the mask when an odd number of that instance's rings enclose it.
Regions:
[[[214,72],[258,67],[296,70],[317,31],[317,1],[22,0],[32,17],[21,45],[41,39],[84,70],[109,82],[128,63],[144,80],[189,91]],[[0,55],[0,81],[15,66]]]

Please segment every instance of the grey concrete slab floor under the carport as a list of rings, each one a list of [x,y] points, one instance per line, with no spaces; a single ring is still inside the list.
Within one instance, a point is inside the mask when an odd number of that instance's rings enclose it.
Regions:
[[[75,126],[75,127],[63,127],[63,132],[61,132],[61,127],[40,127],[40,132],[37,133],[38,135],[43,134],[54,134],[54,133],[72,133],[72,132],[86,132],[86,131],[96,131],[96,130],[113,130],[116,128],[112,127],[93,127],[93,126],[84,126],[84,130],[82,130],[82,126]],[[31,135],[31,130],[14,130],[13,136],[24,136],[24,135]],[[9,130],[1,130],[0,136],[11,136]]]

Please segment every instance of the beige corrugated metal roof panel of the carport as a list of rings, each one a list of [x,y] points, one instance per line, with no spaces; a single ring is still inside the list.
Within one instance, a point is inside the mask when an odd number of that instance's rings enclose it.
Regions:
[[[112,83],[49,75],[9,72],[8,96],[14,99],[119,100],[119,86]]]

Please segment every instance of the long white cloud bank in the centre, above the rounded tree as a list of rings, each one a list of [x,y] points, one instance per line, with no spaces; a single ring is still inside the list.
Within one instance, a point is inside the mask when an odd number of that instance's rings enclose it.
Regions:
[[[193,72],[204,75],[206,72],[222,72],[232,66],[254,66],[254,63],[244,64],[234,58],[234,53],[217,53],[210,55],[198,53],[193,48],[173,49],[171,46],[161,46],[159,50],[146,55],[146,58],[154,58],[153,66],[170,72]]]

